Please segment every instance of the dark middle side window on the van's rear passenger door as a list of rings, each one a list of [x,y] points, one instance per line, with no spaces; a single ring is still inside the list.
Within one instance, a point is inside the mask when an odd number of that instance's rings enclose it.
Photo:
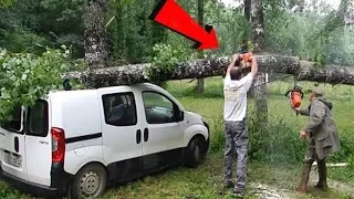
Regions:
[[[103,95],[102,101],[106,124],[113,126],[136,125],[136,105],[132,92]]]

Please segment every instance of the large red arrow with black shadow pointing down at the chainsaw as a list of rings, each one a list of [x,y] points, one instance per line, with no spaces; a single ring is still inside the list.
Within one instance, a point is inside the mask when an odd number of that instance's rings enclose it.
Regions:
[[[162,0],[149,15],[150,20],[195,42],[195,49],[218,49],[214,27],[202,29],[175,0]]]

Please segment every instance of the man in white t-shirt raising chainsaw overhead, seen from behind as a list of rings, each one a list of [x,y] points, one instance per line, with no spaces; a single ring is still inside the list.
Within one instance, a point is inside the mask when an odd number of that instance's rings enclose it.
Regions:
[[[223,81],[223,119],[225,119],[225,166],[223,188],[233,188],[233,193],[244,196],[248,161],[247,132],[247,92],[258,72],[256,57],[251,57],[251,72],[242,77],[242,69],[249,63],[242,61],[241,54],[233,55]],[[237,154],[237,177],[232,182],[232,163]]]

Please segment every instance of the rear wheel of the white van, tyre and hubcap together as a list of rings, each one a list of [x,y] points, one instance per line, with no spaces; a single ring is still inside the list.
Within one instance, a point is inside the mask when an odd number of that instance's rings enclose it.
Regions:
[[[100,164],[84,166],[75,175],[69,189],[70,199],[96,198],[104,193],[107,185],[107,172]]]

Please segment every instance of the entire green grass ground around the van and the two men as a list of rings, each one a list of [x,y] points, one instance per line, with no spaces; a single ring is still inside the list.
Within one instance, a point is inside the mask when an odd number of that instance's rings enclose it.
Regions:
[[[166,84],[166,88],[174,94],[181,104],[188,109],[199,113],[204,119],[210,124],[211,128],[211,147],[205,163],[197,169],[187,169],[183,167],[173,168],[168,171],[160,172],[146,177],[140,180],[123,185],[118,188],[110,189],[103,199],[184,199],[184,198],[231,198],[230,195],[219,195],[222,175],[222,150],[223,150],[223,122],[222,122],[222,83],[220,77],[211,77],[206,80],[206,92],[202,95],[194,93],[195,82],[173,81]],[[313,83],[300,82],[304,90],[312,88]],[[337,158],[332,158],[333,161],[343,161],[350,153],[353,155],[354,144],[354,87],[339,85],[320,85],[326,93],[326,96],[334,103],[333,115],[336,121],[341,139],[344,140],[345,148],[342,149]],[[291,111],[288,100],[283,95],[292,87],[291,81],[274,82],[268,84],[268,106],[269,117],[273,122],[269,127],[262,127],[263,134],[254,134],[259,136],[259,143],[269,142],[272,144],[272,150],[267,150],[273,158],[272,164],[266,161],[251,161],[248,169],[248,181],[250,184],[247,198],[258,198],[254,193],[257,188],[252,184],[267,184],[279,189],[284,189],[293,192],[292,198],[348,198],[348,192],[341,189],[331,188],[327,192],[312,190],[311,195],[298,195],[294,187],[300,178],[300,161],[299,157],[290,157],[293,159],[291,164],[282,161],[284,157],[278,157],[285,154],[289,159],[289,151],[302,154],[304,145],[299,144],[298,133],[302,125],[305,124],[306,117],[295,116]],[[309,95],[305,95],[302,107],[309,105]],[[249,114],[254,106],[252,100],[249,101]],[[253,128],[252,128],[253,129]],[[250,137],[250,139],[254,137]],[[270,140],[262,140],[264,139]],[[254,142],[254,139],[252,139]],[[259,143],[253,143],[256,146]],[[267,147],[267,146],[266,146]],[[251,147],[252,148],[252,147]],[[298,151],[299,150],[299,151]],[[264,154],[261,154],[260,157]],[[354,157],[354,156],[353,156]],[[350,159],[350,158],[348,158]],[[352,158],[354,159],[354,158]],[[354,163],[354,160],[353,160]],[[329,177],[344,185],[354,185],[354,169],[351,167],[329,168]],[[352,186],[353,187],[353,186]],[[6,184],[0,182],[0,198],[29,198],[29,196],[20,193]]]

